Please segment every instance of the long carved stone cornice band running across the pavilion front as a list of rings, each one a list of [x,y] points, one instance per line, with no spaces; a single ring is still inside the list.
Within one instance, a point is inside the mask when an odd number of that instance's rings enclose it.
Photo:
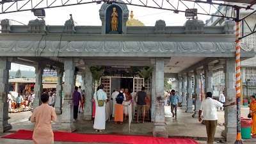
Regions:
[[[228,42],[0,41],[1,52],[234,52]]]

